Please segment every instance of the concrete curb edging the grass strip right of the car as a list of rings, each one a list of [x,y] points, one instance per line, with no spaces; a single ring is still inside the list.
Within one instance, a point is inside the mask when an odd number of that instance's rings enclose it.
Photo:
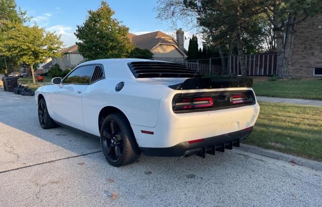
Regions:
[[[258,154],[261,156],[265,156],[265,157],[269,157],[269,158],[273,158],[273,159],[277,159],[277,160],[283,160],[288,163],[292,163],[292,164],[308,167],[308,168],[311,168],[314,170],[322,171],[322,163],[321,162],[317,162],[317,161],[308,160],[305,158],[296,157],[293,155],[288,155],[288,154],[276,152],[274,150],[265,150],[263,148],[259,148],[259,147],[255,147],[255,146],[251,146],[251,145],[245,145],[245,144],[241,144],[240,147],[238,148],[238,150]]]

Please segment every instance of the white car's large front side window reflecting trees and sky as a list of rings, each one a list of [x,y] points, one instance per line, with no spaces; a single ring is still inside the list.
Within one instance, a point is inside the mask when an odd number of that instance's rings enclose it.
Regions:
[[[95,65],[85,65],[76,68],[63,80],[63,84],[90,84],[94,68]]]

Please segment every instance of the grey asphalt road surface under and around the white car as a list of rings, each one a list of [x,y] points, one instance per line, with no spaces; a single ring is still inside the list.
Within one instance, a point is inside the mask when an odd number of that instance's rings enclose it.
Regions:
[[[115,168],[98,137],[41,129],[33,97],[0,88],[0,206],[321,206],[322,172],[238,149]]]

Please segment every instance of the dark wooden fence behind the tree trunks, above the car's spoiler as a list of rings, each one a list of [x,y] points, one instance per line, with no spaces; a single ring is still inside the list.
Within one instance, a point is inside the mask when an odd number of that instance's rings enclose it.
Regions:
[[[220,57],[195,60],[196,62],[178,62],[187,65],[202,75],[222,74]],[[207,61],[209,63],[207,63]],[[239,56],[225,57],[225,64],[230,61],[230,73],[241,75]],[[200,63],[202,62],[202,63]],[[206,63],[205,63],[206,62]],[[277,75],[277,55],[271,54],[249,54],[245,55],[246,72],[248,76],[273,76]]]

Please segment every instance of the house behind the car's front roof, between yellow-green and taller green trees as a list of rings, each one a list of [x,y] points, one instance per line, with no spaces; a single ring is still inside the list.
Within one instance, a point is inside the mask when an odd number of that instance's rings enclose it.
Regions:
[[[68,68],[73,68],[77,64],[84,61],[84,57],[79,53],[78,46],[72,45],[65,49],[62,49],[60,53],[63,54],[62,58],[54,58],[52,60],[52,65],[59,64],[61,70],[66,70]]]

